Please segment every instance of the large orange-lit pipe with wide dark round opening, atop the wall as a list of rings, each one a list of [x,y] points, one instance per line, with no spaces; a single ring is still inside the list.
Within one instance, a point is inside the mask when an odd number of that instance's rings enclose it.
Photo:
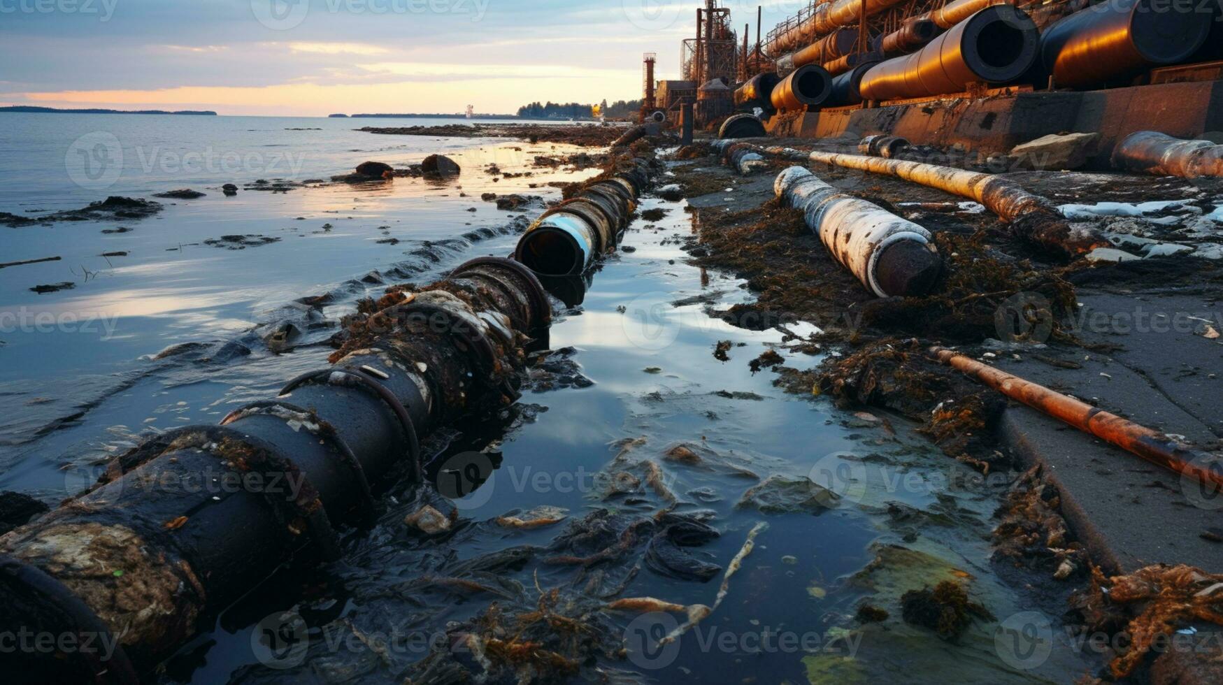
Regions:
[[[920,51],[876,65],[862,77],[868,100],[960,93],[969,83],[1008,83],[1036,60],[1040,31],[1010,5],[980,10]]]

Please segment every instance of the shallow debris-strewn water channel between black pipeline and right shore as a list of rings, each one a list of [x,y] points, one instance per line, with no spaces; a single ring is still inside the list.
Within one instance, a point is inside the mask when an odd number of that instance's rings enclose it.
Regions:
[[[161,681],[1065,683],[1096,668],[1030,613],[1057,592],[991,561],[1009,480],[899,417],[753,372],[769,351],[817,365],[790,349],[811,327],[722,320],[744,284],[685,262],[682,203],[642,210],[654,220],[588,289],[567,284],[522,400],[428,445],[435,489],[394,488],[341,561],[252,588]]]

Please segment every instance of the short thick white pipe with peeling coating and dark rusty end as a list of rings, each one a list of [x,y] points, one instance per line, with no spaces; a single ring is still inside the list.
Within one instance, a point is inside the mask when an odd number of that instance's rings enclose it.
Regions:
[[[845,194],[801,166],[781,171],[773,190],[802,212],[833,258],[874,295],[909,297],[933,287],[942,259],[926,229]]]

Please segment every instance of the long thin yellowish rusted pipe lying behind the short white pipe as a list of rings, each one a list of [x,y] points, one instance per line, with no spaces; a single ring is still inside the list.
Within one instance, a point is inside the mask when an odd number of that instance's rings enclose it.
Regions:
[[[1048,199],[1035,196],[999,176],[859,154],[817,150],[810,153],[807,158],[821,164],[895,176],[980,202],[1009,223],[1016,236],[1054,253],[1076,257],[1109,245],[1092,229],[1071,229],[1062,212]]]

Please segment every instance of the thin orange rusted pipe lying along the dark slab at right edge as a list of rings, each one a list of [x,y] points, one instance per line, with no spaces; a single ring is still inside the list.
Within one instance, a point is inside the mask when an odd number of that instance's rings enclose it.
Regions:
[[[1203,486],[1213,487],[1216,491],[1223,489],[1223,468],[1219,467],[1221,461],[1217,456],[1195,450],[1163,433],[983,365],[953,350],[932,347],[931,354],[939,362],[1084,433],[1090,433],[1162,468],[1191,477]]]

